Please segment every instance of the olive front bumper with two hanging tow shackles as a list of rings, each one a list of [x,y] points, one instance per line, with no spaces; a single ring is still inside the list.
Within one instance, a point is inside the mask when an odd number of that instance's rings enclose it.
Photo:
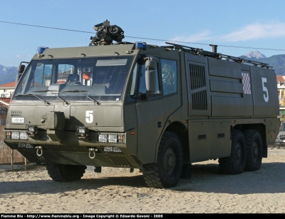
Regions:
[[[46,131],[38,131],[36,138],[28,136],[28,139],[24,139],[26,137],[21,134],[23,132],[19,131],[19,135],[13,134],[12,136],[11,134],[11,138],[4,139],[4,142],[33,163],[142,168],[142,163],[136,158],[136,154],[127,146],[127,138],[133,138],[129,132],[118,133],[124,138],[123,142],[117,143],[112,142],[113,137],[109,138],[110,142],[100,142],[98,133],[95,132],[89,133],[88,138],[79,138],[74,131],[63,131],[64,141],[54,141]],[[106,133],[106,138],[108,138],[108,133]],[[130,147],[132,145],[133,143],[130,143]]]

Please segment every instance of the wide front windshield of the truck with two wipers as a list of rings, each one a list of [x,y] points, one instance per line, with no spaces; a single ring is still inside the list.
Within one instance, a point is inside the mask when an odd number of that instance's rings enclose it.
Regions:
[[[120,101],[132,57],[33,60],[14,99]]]

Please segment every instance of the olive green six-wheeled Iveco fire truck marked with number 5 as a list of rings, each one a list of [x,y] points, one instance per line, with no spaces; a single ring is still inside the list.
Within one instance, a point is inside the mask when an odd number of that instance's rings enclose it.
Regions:
[[[138,168],[155,188],[209,159],[225,174],[259,170],[280,126],[271,66],[215,45],[125,42],[109,21],[94,29],[89,46],[39,47],[19,65],[10,148],[60,182],[80,180],[86,165]]]

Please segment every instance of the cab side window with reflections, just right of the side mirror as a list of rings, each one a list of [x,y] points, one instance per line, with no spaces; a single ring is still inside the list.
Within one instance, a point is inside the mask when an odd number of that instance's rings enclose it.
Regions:
[[[177,61],[160,59],[163,95],[177,93]]]

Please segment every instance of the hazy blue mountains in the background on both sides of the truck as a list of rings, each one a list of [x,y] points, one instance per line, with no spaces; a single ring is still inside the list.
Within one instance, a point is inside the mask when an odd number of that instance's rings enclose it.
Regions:
[[[277,76],[285,76],[285,54],[270,56],[267,58],[259,51],[251,51],[243,56],[239,56],[239,58],[268,63],[269,66],[274,68]],[[17,67],[5,67],[0,64],[0,85],[14,82],[16,80],[17,73]]]

